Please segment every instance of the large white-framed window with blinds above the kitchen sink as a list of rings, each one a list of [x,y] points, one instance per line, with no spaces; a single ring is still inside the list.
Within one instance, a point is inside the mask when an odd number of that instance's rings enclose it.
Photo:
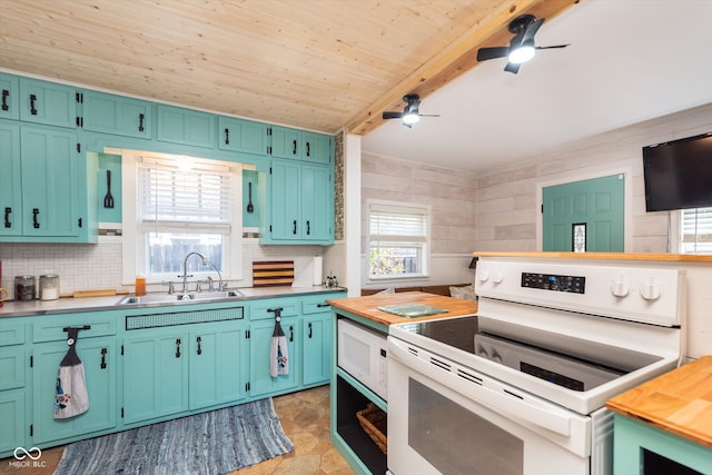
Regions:
[[[136,222],[123,229],[125,281],[134,274],[177,281],[191,251],[209,263],[187,263],[191,281],[215,279],[216,270],[224,279],[241,277],[241,164],[140,152],[123,154],[122,161],[123,177],[135,177],[129,188],[125,182],[125,197],[136,197],[123,210],[125,222]]]

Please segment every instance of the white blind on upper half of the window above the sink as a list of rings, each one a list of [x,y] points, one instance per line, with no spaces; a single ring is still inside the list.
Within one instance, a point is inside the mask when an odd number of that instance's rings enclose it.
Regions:
[[[139,164],[139,218],[145,227],[229,227],[231,174],[227,166],[144,157]],[[147,230],[147,229],[144,229]]]

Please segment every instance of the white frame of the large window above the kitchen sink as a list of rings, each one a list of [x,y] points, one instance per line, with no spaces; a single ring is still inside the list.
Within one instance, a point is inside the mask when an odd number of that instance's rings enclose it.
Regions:
[[[214,160],[201,157],[190,157],[174,154],[161,154],[141,150],[106,150],[107,154],[121,155],[122,174],[122,285],[132,285],[137,275],[145,275],[147,284],[164,284],[168,280],[178,281],[179,276],[166,279],[165,274],[146,275],[146,247],[145,231],[141,229],[142,220],[139,216],[138,185],[140,172],[139,161],[142,157],[157,159],[177,159],[180,161],[199,161],[215,166],[227,166],[233,176],[230,187],[230,222],[227,226],[228,236],[224,240],[224,269],[220,271],[224,281],[243,279],[243,169],[249,168],[245,164]],[[208,226],[200,226],[209,228]],[[222,225],[225,229],[225,225]],[[184,269],[180,269],[182,273]],[[208,276],[215,278],[214,269],[205,271],[192,271],[191,280],[204,279]]]

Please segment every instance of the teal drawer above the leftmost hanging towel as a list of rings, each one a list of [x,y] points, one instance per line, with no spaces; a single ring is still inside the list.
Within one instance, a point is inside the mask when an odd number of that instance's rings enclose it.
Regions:
[[[89,329],[79,331],[78,339],[91,338],[97,336],[116,335],[116,318],[101,317],[91,313],[55,316],[48,315],[34,321],[32,331],[32,342],[59,342],[67,339],[67,327],[90,326]]]

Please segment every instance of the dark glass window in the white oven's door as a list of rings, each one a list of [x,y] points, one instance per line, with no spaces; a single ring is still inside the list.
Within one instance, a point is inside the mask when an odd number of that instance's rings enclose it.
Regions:
[[[408,378],[408,445],[444,474],[522,475],[524,442]]]

